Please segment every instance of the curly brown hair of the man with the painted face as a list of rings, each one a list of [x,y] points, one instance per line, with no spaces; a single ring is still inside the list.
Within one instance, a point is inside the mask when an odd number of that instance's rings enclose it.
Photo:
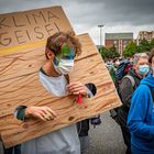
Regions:
[[[46,51],[51,51],[57,56],[62,52],[62,46],[67,44],[75,50],[75,56],[81,53],[81,44],[73,32],[57,32],[50,36],[46,42]],[[45,55],[47,53],[45,52]],[[47,55],[46,55],[47,58]]]

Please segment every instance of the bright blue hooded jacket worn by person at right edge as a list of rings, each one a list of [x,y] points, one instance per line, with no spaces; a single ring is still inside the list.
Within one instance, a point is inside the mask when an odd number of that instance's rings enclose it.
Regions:
[[[154,154],[154,102],[147,85],[154,88],[152,75],[141,80],[128,117],[133,154]]]

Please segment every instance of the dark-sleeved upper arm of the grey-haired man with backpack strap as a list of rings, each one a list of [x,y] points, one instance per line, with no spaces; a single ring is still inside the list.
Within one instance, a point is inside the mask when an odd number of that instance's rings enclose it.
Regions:
[[[134,92],[134,89],[133,89],[131,80],[127,77],[123,78],[120,85],[120,95],[121,95],[122,102],[127,107],[130,107],[133,92]]]

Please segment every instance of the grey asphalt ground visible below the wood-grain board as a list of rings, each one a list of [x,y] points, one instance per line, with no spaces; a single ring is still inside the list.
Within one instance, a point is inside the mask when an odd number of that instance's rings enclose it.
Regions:
[[[125,145],[119,125],[109,112],[101,114],[101,125],[90,129],[90,146],[85,154],[124,154]],[[0,154],[3,154],[1,145]]]

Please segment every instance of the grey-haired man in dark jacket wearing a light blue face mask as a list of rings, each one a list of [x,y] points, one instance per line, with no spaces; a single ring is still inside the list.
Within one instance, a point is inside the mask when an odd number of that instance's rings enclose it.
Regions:
[[[118,121],[127,145],[127,154],[131,154],[130,132],[127,127],[131,98],[141,79],[147,75],[148,70],[148,56],[145,53],[135,54],[133,58],[133,67],[129,70],[128,75],[122,78],[120,84],[120,97],[123,105],[118,110]]]

